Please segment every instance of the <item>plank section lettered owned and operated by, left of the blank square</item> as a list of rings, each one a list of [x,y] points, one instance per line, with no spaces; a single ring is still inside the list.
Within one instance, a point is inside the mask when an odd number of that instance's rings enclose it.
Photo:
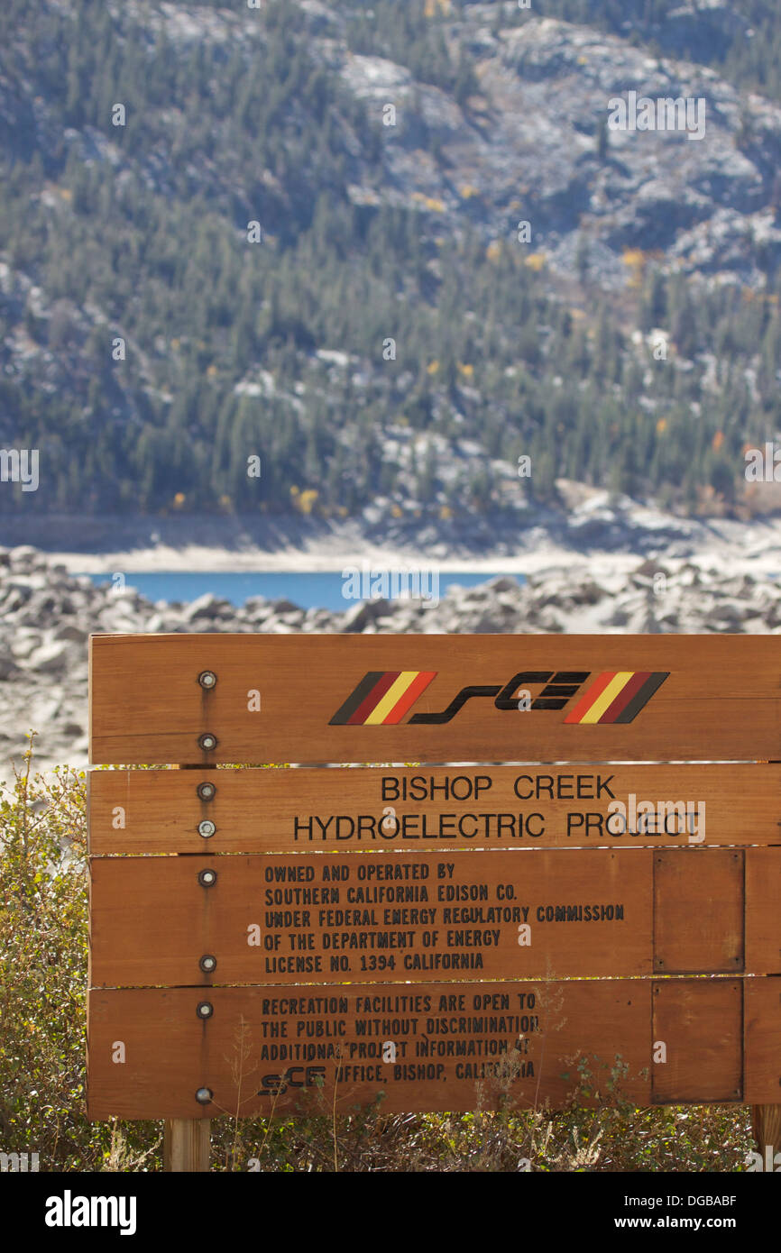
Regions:
[[[204,867],[212,887],[198,882]],[[94,986],[653,969],[649,850],[102,857],[92,871]]]

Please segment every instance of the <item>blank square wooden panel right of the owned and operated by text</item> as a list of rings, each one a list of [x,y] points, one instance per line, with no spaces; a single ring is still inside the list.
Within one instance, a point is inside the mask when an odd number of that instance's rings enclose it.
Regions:
[[[700,848],[673,848],[654,855],[653,964],[658,974],[742,972],[743,860],[746,853],[766,851],[781,866],[781,848],[710,848],[706,856]],[[751,898],[746,912],[755,910]],[[777,912],[766,910],[766,926],[775,923],[781,940]]]

